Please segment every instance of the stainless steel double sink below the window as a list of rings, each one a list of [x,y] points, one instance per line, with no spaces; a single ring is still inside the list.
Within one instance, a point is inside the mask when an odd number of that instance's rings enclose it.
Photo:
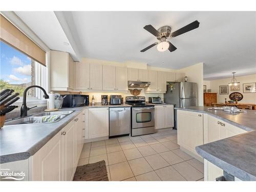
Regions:
[[[12,119],[9,121],[5,122],[5,126],[8,125],[18,125],[18,124],[37,124],[37,123],[54,123],[54,122],[58,122],[61,119],[65,118],[66,116],[68,116],[69,114],[73,113],[74,111],[54,111],[54,112],[41,112],[41,113],[36,113],[36,114],[32,114],[30,116],[27,117],[20,117],[17,119]],[[53,115],[59,115],[59,117],[51,122],[38,122],[38,117],[42,117],[42,116],[53,116]]]

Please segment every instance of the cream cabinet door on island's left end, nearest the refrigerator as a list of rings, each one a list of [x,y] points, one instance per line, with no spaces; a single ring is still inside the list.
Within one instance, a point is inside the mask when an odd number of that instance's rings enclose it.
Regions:
[[[203,114],[178,110],[178,144],[197,155],[196,146],[203,144]]]

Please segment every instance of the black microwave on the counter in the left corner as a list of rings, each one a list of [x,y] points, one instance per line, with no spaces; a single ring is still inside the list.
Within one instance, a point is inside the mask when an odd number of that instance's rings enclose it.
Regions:
[[[89,95],[61,95],[64,108],[75,108],[77,106],[89,105]]]

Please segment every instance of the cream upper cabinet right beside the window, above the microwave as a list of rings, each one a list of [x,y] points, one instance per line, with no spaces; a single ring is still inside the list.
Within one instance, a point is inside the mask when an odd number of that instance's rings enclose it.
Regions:
[[[50,90],[72,91],[75,88],[74,61],[67,52],[50,52]]]

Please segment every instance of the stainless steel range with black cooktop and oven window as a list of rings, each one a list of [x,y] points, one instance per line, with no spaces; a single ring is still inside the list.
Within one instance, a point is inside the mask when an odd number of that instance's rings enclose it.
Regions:
[[[155,133],[155,107],[145,103],[145,97],[126,97],[126,104],[132,105],[131,136]]]

